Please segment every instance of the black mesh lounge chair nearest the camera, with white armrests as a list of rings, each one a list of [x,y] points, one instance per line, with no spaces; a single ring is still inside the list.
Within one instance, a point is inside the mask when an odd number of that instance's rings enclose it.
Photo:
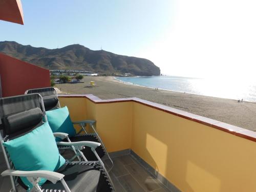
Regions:
[[[18,147],[14,146],[14,153],[10,153],[7,148],[7,143],[15,142],[15,140],[23,138],[25,136],[33,134],[48,124],[47,117],[45,115],[44,102],[39,94],[28,94],[14,97],[0,98],[0,128],[3,130],[3,136],[0,134],[1,148],[4,154],[4,158],[7,164],[7,170],[5,170],[1,175],[10,176],[12,191],[17,191],[16,184],[19,183],[25,189],[28,185],[25,185],[24,178],[32,183],[30,191],[66,191],[66,192],[87,192],[87,191],[115,191],[112,185],[111,179],[108,172],[106,172],[105,167],[98,157],[95,148],[100,145],[100,143],[90,142],[90,141],[80,141],[80,142],[57,142],[58,145],[69,145],[69,146],[88,146],[94,152],[98,161],[63,161],[62,165],[59,165],[57,169],[53,172],[51,170],[36,169],[36,170],[17,170],[17,161],[14,162],[16,154],[18,152]],[[43,128],[41,130],[46,130]],[[53,143],[50,148],[56,147],[56,142],[54,139],[54,134],[50,127],[48,127],[48,132],[50,134],[46,142]],[[41,136],[41,135],[39,135]],[[52,137],[52,139],[51,139]],[[30,141],[29,139],[24,140],[24,142]],[[47,154],[40,154],[39,148],[44,148],[45,145],[42,143],[44,140],[36,140],[36,150],[35,157],[42,156],[44,162],[48,162],[50,157]],[[46,143],[45,142],[45,143]],[[20,144],[20,142],[18,142]],[[22,154],[25,156],[31,153],[32,147],[35,145],[23,148]],[[9,152],[9,153],[8,153]],[[58,157],[59,152],[56,151]],[[14,154],[14,155],[13,155]],[[40,154],[40,155],[38,155]],[[55,153],[56,154],[56,153]],[[13,158],[15,157],[15,158]],[[46,159],[45,159],[46,158]],[[37,164],[34,161],[28,159],[26,166],[31,164]],[[20,161],[19,161],[20,162]],[[39,162],[40,163],[40,162]],[[23,163],[22,163],[23,164]],[[23,164],[23,165],[24,165]],[[20,178],[22,177],[22,178]],[[39,182],[42,178],[47,179],[47,181],[39,186]]]

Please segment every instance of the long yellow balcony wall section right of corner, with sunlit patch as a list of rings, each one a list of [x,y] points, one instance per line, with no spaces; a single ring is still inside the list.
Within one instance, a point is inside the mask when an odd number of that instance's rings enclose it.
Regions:
[[[134,103],[132,150],[182,191],[255,189],[253,147],[249,140]]]

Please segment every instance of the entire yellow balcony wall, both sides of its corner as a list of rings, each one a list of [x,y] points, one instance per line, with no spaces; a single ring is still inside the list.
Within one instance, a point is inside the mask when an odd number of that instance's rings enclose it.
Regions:
[[[256,191],[254,141],[135,100],[97,103],[74,97],[60,102],[72,119],[97,121],[109,152],[131,148],[181,191]]]

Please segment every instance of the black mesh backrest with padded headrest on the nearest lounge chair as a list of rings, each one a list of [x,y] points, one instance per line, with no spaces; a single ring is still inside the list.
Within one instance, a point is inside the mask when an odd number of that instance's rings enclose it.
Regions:
[[[8,169],[13,168],[13,165],[3,145],[4,140],[14,139],[40,126],[43,120],[47,121],[45,114],[44,102],[39,94],[0,98],[0,129],[3,130],[0,145]],[[13,177],[11,184],[16,191]]]

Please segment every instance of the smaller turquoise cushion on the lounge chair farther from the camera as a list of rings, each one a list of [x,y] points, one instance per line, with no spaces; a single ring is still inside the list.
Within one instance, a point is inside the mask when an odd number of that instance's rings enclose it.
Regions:
[[[46,112],[46,116],[53,133],[61,132],[69,134],[69,137],[76,135],[73,123],[69,116],[67,106]],[[56,141],[61,139],[56,138]]]

